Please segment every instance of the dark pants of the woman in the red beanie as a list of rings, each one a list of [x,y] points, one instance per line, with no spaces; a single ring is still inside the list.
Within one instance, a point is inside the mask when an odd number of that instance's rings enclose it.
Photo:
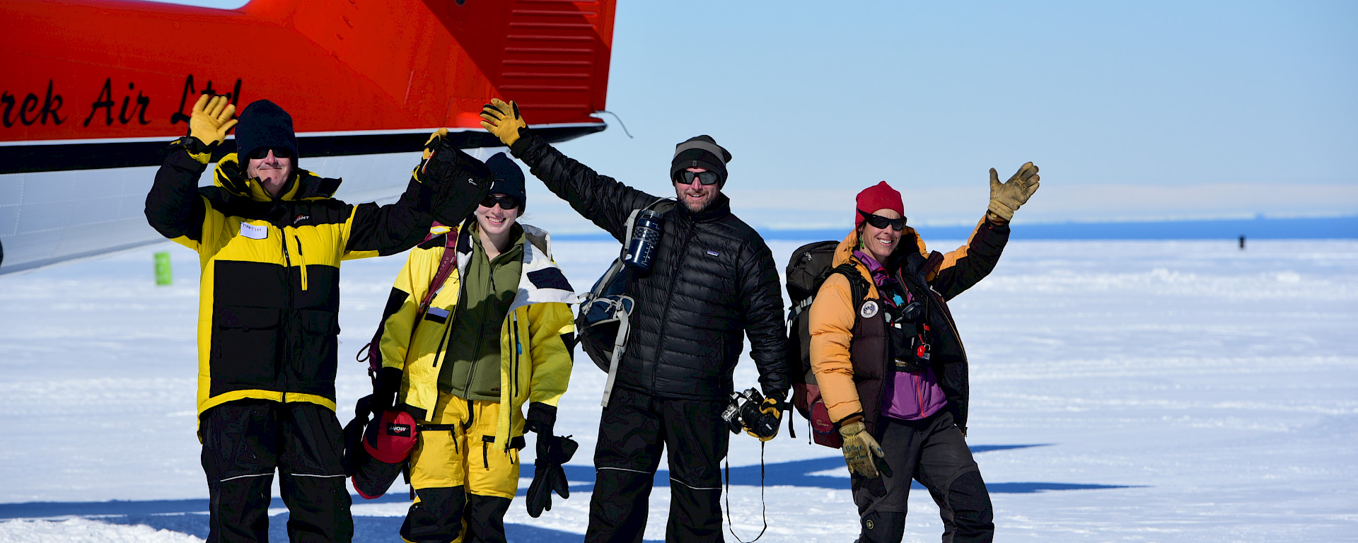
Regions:
[[[900,542],[911,479],[929,489],[938,504],[944,543],[993,540],[990,493],[952,413],[940,410],[921,421],[883,415],[877,424],[885,426],[876,433],[892,475],[872,479],[853,475],[853,501],[862,524],[858,542]]]

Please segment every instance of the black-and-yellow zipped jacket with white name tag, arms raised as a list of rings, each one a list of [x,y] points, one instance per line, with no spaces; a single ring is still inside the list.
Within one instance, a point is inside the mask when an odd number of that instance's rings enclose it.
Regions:
[[[395,204],[349,205],[340,179],[295,168],[278,198],[236,155],[198,187],[208,155],[174,148],[147,195],[147,221],[198,251],[198,413],[246,398],[335,409],[340,262],[424,239],[432,193],[411,178]]]

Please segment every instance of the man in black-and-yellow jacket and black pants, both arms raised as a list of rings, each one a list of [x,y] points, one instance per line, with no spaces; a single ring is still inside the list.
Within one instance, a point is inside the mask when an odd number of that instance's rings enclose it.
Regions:
[[[202,266],[197,403],[208,540],[268,540],[277,470],[289,539],[348,542],[334,414],[340,262],[410,248],[432,219],[464,217],[490,179],[479,162],[430,138],[433,156],[399,201],[345,204],[333,198],[340,179],[297,167],[292,117],[258,100],[240,114],[239,152],[217,162],[213,186],[198,187],[234,113],[225,96],[200,98],[145,208],[151,225],[198,251]]]

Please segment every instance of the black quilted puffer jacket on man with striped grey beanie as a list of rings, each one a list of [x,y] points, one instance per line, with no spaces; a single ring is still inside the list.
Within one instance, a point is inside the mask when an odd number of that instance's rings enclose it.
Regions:
[[[659,198],[599,175],[536,136],[519,138],[511,151],[619,242],[627,216]],[[725,195],[701,213],[675,206],[650,274],[629,289],[637,310],[615,386],[664,398],[725,398],[746,331],[763,394],[786,395],[778,270],[763,238],[731,214]]]

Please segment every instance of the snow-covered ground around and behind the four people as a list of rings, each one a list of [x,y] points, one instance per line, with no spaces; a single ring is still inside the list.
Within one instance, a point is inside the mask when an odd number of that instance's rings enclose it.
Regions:
[[[773,243],[779,266],[799,244]],[[171,252],[172,286],[153,285],[155,251]],[[555,252],[583,291],[617,244]],[[368,388],[346,357],[401,263],[344,266],[342,421]],[[0,542],[206,536],[197,293],[197,257],[170,243],[0,276]],[[1014,242],[952,308],[999,540],[1358,540],[1358,242]],[[516,501],[511,540],[581,539],[603,377],[581,357],[562,403],[559,432],[581,443],[570,500],[540,519]],[[736,384],[754,383],[746,361]],[[746,540],[762,527],[759,455],[756,440],[732,438],[731,516]],[[779,436],[765,462],[763,542],[854,539],[838,451]],[[664,538],[660,479],[646,539]],[[398,540],[403,487],[354,502],[356,540]],[[938,540],[928,493],[910,506],[906,540]]]

